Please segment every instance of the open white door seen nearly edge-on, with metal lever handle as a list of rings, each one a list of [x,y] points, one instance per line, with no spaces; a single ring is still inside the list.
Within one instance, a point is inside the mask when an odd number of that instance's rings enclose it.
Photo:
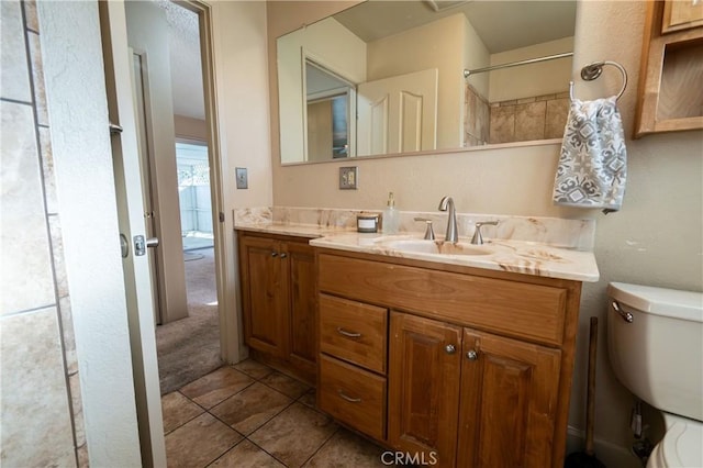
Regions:
[[[126,288],[142,464],[166,466],[152,281],[146,255],[147,232],[137,122],[133,100],[132,53],[127,47],[124,2],[99,2],[99,8],[108,108],[110,122],[114,129],[111,142],[118,215],[120,232],[126,244],[126,249],[123,249],[122,266]]]

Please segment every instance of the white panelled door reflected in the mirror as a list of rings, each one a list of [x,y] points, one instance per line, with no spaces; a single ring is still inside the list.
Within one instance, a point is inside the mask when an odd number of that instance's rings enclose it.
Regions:
[[[436,68],[358,86],[357,155],[437,147]]]

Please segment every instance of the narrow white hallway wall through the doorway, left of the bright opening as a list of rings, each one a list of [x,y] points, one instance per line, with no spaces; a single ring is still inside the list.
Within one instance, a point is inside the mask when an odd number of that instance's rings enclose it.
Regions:
[[[130,47],[146,54],[148,78],[145,85],[146,121],[150,131],[152,190],[159,237],[157,261],[163,323],[188,316],[186,266],[180,231],[178,176],[176,170],[176,134],[171,94],[168,23],[165,11],[155,2],[126,1]],[[197,91],[200,92],[200,91]]]

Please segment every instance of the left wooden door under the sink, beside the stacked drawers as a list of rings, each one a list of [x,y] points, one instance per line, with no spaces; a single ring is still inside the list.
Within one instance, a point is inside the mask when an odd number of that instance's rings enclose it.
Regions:
[[[461,328],[391,313],[389,434],[398,450],[455,465]]]

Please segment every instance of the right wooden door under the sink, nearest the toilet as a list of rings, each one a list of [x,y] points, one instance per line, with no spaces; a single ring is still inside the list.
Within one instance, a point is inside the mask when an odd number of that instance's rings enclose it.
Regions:
[[[458,465],[553,466],[560,352],[465,330]]]

